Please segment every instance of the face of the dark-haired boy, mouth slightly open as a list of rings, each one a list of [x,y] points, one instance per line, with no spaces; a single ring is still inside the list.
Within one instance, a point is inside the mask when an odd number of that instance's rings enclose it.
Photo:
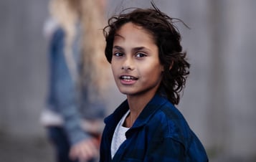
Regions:
[[[153,36],[131,22],[115,34],[111,67],[118,89],[130,96],[153,97],[163,72]]]

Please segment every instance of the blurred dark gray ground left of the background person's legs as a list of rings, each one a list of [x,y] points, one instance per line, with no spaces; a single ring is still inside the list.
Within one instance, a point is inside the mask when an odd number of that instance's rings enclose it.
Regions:
[[[53,153],[47,138],[0,135],[1,162],[54,162]]]

